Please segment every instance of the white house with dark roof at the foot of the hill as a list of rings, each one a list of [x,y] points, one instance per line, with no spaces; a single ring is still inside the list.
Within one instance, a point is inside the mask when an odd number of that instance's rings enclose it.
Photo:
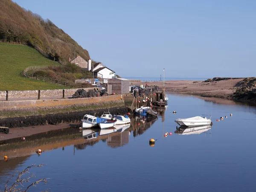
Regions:
[[[115,76],[115,72],[105,67],[102,63],[94,64],[91,71],[94,73],[94,78],[112,79]]]

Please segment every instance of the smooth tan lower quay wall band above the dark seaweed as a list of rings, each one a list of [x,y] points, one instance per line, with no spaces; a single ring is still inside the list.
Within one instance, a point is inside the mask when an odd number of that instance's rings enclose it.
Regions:
[[[110,95],[103,97],[90,97],[79,99],[35,99],[35,100],[15,100],[0,101],[0,110],[11,108],[29,107],[53,107],[58,105],[90,104],[98,102],[110,102],[122,99],[122,95]]]

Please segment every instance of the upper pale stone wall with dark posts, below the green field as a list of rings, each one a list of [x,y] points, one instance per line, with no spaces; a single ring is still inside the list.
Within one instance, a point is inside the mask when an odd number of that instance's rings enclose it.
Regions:
[[[83,88],[84,90],[92,90],[93,88]],[[65,96],[73,95],[76,89],[65,89]],[[50,97],[50,96],[62,96],[62,89],[55,90],[41,90],[41,97]],[[12,98],[29,98],[29,97],[38,97],[38,90],[25,90],[25,91],[8,91],[9,99]],[[6,99],[6,91],[0,91],[0,99]]]

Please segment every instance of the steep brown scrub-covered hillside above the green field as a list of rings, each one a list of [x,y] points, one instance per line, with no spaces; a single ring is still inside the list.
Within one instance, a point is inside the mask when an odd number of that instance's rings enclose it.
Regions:
[[[0,41],[38,46],[47,53],[62,60],[74,57],[74,49],[84,59],[90,58],[83,49],[62,29],[49,19],[26,11],[11,0],[0,0]]]

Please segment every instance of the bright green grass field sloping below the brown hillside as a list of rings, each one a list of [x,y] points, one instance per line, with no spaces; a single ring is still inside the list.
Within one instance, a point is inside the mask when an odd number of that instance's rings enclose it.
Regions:
[[[20,76],[26,67],[58,65],[26,45],[0,43],[0,90],[47,90],[67,89],[68,87],[51,84]]]

